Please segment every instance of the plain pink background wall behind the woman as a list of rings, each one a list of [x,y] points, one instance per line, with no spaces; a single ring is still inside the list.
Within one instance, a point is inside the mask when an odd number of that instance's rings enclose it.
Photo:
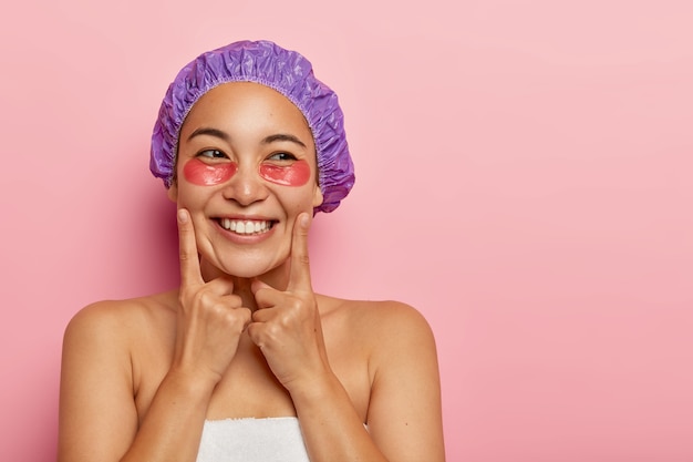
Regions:
[[[341,96],[358,182],[313,283],[426,316],[448,461],[693,460],[691,2],[328,4],[3,7],[0,460],[54,459],[73,314],[176,283],[151,129],[242,38]]]

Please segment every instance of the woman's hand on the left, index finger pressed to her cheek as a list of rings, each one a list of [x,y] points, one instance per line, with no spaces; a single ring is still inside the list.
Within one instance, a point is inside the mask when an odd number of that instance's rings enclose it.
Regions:
[[[216,384],[236,355],[250,310],[234,295],[230,278],[203,279],[195,228],[184,208],[178,211],[178,237],[180,292],[174,367]]]

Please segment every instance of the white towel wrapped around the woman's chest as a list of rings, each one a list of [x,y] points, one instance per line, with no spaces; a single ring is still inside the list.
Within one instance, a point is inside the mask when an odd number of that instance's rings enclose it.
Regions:
[[[207,420],[197,462],[310,462],[299,420]]]

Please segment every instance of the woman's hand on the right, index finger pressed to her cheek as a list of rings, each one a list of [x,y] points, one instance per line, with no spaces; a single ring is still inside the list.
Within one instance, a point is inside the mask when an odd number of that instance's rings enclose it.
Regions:
[[[252,314],[248,333],[277,379],[290,392],[329,370],[320,314],[310,283],[309,227],[309,214],[300,214],[293,224],[286,291],[259,280],[252,283],[258,309]]]

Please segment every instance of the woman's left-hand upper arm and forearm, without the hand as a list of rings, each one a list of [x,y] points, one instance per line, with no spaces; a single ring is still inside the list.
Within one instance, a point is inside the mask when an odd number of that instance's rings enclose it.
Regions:
[[[63,343],[59,462],[194,462],[214,383],[172,368],[138,424],[122,304],[96,304]]]

